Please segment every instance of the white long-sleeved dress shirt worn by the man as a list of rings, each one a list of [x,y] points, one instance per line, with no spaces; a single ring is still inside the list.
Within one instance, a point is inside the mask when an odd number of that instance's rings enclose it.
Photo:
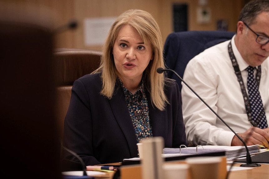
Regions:
[[[232,37],[232,50],[237,59],[247,91],[248,64],[242,59]],[[225,41],[204,50],[189,61],[183,80],[236,132],[243,133],[252,125]],[[261,65],[259,92],[269,121],[269,58]],[[256,75],[256,70],[255,70]],[[230,146],[234,133],[182,83],[182,110],[190,145]]]

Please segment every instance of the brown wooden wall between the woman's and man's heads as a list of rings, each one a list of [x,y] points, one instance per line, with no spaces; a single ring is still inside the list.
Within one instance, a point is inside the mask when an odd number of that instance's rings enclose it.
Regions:
[[[198,0],[166,0],[161,2],[161,18],[160,27],[163,29],[163,39],[173,32],[173,4],[188,4],[188,27],[189,31],[210,31],[217,30],[217,21],[226,20],[228,22],[228,31],[236,30],[236,23],[239,13],[244,5],[242,0],[208,0],[208,4],[204,7],[211,9],[211,21],[207,24],[199,24],[197,22]]]

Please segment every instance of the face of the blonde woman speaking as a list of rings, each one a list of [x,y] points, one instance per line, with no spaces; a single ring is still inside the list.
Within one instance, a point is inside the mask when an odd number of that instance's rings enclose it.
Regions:
[[[149,61],[153,59],[153,51],[151,44],[145,45],[133,27],[124,25],[116,37],[113,56],[121,80],[137,81],[141,80]]]

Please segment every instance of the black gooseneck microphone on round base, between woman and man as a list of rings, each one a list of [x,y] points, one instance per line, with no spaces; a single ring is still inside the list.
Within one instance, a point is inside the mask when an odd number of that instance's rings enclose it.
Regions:
[[[203,103],[238,137],[238,139],[241,140],[241,142],[244,144],[246,151],[247,151],[247,163],[241,164],[240,167],[259,167],[261,166],[258,163],[252,163],[252,159],[250,157],[250,153],[247,148],[247,144],[244,142],[244,140],[234,131],[232,128],[179,76],[178,73],[176,73],[174,70],[171,69],[163,69],[163,68],[157,68],[157,73],[164,73],[164,71],[171,71],[173,72]]]

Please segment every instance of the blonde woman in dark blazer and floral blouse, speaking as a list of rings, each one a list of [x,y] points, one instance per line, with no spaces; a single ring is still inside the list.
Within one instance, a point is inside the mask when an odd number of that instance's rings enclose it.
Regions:
[[[110,28],[100,67],[74,82],[64,145],[86,165],[138,157],[143,138],[187,145],[179,86],[156,72],[164,68],[162,43],[148,12],[128,10]]]

